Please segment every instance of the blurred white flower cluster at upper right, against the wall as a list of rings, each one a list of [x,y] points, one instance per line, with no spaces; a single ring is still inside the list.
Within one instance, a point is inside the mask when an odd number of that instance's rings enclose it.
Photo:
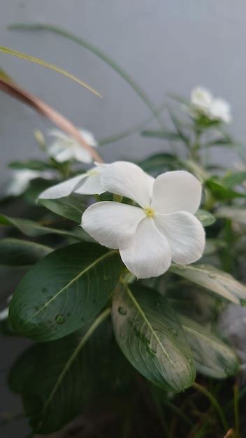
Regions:
[[[210,91],[196,87],[191,91],[191,115],[205,115],[210,120],[230,123],[231,107],[223,99],[215,99]]]

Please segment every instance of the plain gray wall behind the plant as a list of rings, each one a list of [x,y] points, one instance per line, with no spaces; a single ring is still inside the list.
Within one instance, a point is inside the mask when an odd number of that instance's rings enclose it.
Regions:
[[[243,0],[1,0],[1,44],[62,66],[96,87],[103,99],[40,66],[0,55],[0,66],[22,87],[59,109],[97,138],[140,122],[148,110],[100,59],[48,32],[9,31],[12,22],[66,27],[108,53],[145,89],[154,104],[174,91],[189,96],[202,84],[228,99],[231,129],[245,134],[245,1]],[[1,178],[6,162],[38,155],[32,131],[48,122],[0,94]],[[103,146],[103,157],[143,156],[159,141],[132,136]],[[166,146],[168,148],[168,146]]]

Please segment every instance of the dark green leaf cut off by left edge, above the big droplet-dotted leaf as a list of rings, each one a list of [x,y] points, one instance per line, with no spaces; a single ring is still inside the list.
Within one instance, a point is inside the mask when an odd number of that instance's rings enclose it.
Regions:
[[[52,248],[39,243],[12,238],[0,240],[0,264],[4,266],[35,264],[50,253]]]

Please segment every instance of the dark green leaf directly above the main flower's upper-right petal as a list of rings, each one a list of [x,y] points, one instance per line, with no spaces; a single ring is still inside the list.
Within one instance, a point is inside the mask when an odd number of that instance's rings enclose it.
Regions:
[[[145,158],[145,160],[139,161],[138,166],[150,174],[160,174],[166,170],[177,169],[180,160],[173,154],[169,153],[159,153],[155,155],[150,155],[150,157]]]

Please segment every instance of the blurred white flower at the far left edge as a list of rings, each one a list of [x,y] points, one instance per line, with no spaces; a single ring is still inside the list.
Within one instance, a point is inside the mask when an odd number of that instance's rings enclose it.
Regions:
[[[6,181],[2,189],[4,196],[20,196],[27,190],[29,183],[36,178],[51,179],[52,174],[48,171],[36,171],[30,169],[13,170],[10,179]]]

